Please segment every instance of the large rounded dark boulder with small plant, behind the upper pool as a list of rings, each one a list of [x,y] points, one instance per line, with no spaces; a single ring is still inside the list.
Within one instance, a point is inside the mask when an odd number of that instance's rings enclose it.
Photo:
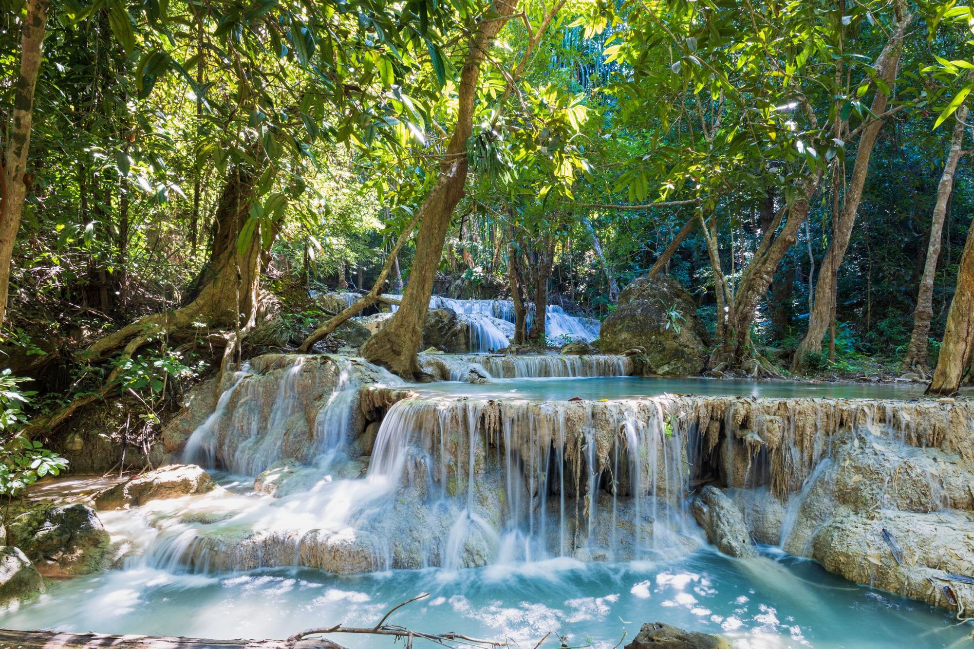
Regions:
[[[645,371],[691,376],[703,370],[706,329],[696,317],[693,296],[676,280],[640,278],[626,286],[599,336],[603,354],[645,350]]]

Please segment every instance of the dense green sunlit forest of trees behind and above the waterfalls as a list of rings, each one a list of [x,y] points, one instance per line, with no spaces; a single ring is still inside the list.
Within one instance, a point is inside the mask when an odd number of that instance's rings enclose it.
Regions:
[[[974,205],[971,24],[900,0],[4,0],[4,428],[121,399],[143,443],[194,379],[301,345],[329,290],[602,318],[652,272],[693,293],[718,373],[925,378]]]

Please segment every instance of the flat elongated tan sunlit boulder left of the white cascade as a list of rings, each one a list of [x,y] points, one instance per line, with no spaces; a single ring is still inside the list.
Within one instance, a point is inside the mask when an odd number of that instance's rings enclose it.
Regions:
[[[94,506],[99,510],[121,510],[126,506],[144,505],[150,500],[180,498],[215,488],[213,478],[195,464],[174,464],[102,491],[94,497]]]

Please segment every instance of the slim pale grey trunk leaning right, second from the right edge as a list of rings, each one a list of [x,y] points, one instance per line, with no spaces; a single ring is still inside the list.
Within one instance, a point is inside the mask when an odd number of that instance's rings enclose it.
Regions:
[[[954,135],[951,139],[951,150],[947,155],[944,172],[940,176],[937,187],[937,204],[933,207],[933,217],[930,219],[930,240],[926,247],[926,263],[923,265],[923,275],[920,277],[917,294],[917,308],[914,310],[914,329],[910,336],[910,347],[903,359],[902,369],[927,368],[929,352],[927,338],[930,335],[930,320],[933,318],[933,281],[937,274],[937,259],[940,257],[941,234],[944,230],[944,218],[947,214],[947,203],[954,190],[954,173],[957,163],[963,155],[964,122],[967,120],[967,105],[957,108]]]

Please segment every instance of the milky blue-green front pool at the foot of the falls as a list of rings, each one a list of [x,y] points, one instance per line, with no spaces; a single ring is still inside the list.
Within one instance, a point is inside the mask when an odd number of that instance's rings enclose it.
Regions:
[[[371,627],[395,604],[429,592],[390,624],[507,638],[531,649],[626,643],[644,622],[723,633],[740,647],[948,647],[970,632],[916,601],[852,585],[776,551],[740,560],[698,551],[666,563],[574,559],[445,572],[338,577],[308,569],[193,576],[132,568],[54,585],[0,616],[14,629],[52,628],[195,637],[283,638],[319,626]],[[346,646],[389,637],[334,634]],[[430,645],[432,646],[432,645]],[[967,646],[967,645],[963,645]]]

